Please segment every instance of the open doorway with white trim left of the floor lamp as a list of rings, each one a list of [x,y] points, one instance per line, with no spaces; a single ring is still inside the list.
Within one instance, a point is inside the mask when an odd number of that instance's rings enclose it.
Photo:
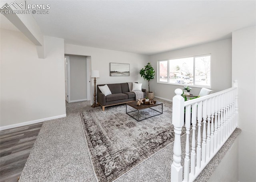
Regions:
[[[91,100],[90,56],[65,55],[64,64],[66,102]]]

